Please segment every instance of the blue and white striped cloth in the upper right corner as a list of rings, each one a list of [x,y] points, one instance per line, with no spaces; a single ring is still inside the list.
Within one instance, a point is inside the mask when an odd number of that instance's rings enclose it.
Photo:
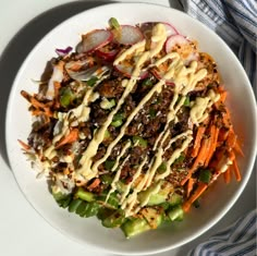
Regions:
[[[256,88],[256,0],[180,0],[184,11],[215,31],[234,51]]]

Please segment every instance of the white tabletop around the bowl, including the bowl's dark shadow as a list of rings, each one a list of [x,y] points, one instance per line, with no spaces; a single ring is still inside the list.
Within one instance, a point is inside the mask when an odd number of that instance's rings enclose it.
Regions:
[[[19,190],[8,166],[4,145],[8,95],[15,74],[27,53],[57,24],[73,14],[103,2],[107,1],[0,0],[0,255],[2,256],[107,256],[88,251],[68,240],[45,222]],[[140,0],[140,2],[168,7],[178,5],[173,0]],[[195,241],[180,248],[159,254],[159,256],[185,256],[196,244],[255,207],[256,170],[237,203],[212,229]]]

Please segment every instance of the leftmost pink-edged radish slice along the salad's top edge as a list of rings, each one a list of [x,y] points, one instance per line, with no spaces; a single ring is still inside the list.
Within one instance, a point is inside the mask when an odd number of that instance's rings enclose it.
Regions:
[[[83,35],[82,50],[89,52],[100,47],[106,46],[113,39],[113,34],[106,29],[95,29],[86,35]],[[77,50],[78,50],[77,46]],[[79,49],[81,50],[81,49]]]

